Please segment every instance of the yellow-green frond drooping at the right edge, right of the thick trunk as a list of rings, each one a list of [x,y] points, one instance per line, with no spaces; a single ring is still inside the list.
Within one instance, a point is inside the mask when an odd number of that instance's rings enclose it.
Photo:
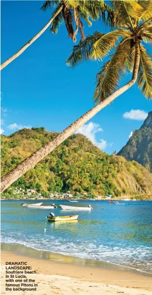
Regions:
[[[152,99],[152,56],[144,46],[140,46],[140,66],[137,84],[147,99]]]

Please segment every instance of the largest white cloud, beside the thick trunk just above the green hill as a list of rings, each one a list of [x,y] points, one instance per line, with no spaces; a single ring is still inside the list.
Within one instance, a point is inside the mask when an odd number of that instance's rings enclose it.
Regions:
[[[108,146],[112,146],[113,143],[108,144],[106,140],[100,139],[99,142],[96,140],[95,135],[98,132],[102,132],[103,129],[99,124],[95,124],[93,122],[89,122],[88,124],[84,124],[82,127],[76,130],[75,133],[81,133],[85,135],[94,146],[99,147],[101,149],[105,149]]]

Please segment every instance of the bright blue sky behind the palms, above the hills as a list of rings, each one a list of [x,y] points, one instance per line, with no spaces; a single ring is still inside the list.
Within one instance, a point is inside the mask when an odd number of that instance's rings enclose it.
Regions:
[[[1,62],[47,23],[51,11],[41,11],[42,3],[1,1]],[[106,32],[102,22],[94,22],[91,28],[84,24],[85,36],[95,31]],[[103,63],[89,61],[74,69],[68,68],[65,61],[73,45],[63,24],[57,35],[47,30],[1,71],[1,129],[4,135],[24,126],[44,126],[49,131],[61,132],[93,107],[95,77]],[[128,79],[126,76],[123,82]],[[152,101],[147,101],[134,85],[80,131],[104,151],[118,152],[131,131],[140,128],[149,111],[152,111]],[[123,116],[126,112],[129,114]]]

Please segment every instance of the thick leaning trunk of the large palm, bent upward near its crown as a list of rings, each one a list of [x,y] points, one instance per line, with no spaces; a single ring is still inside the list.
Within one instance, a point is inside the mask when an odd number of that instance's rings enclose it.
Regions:
[[[78,118],[74,123],[72,123],[69,127],[67,127],[63,132],[61,132],[57,137],[55,137],[51,142],[45,144],[43,147],[40,147],[37,151],[35,151],[32,155],[30,155],[27,159],[25,159],[22,163],[16,166],[13,170],[7,173],[1,179],[1,191],[5,190],[9,185],[15,182],[19,177],[21,177],[24,173],[26,173],[29,169],[34,168],[35,165],[41,161],[46,155],[48,155],[52,150],[58,147],[63,143],[70,135],[72,135],[79,127],[81,127],[84,123],[90,120],[98,111],[102,110],[106,106],[108,106],[116,97],[120,94],[128,90],[132,85],[135,84],[137,80],[137,74],[139,69],[140,62],[140,48],[139,42],[136,41],[136,53],[135,53],[135,62],[134,62],[134,70],[132,79],[125,84],[123,87],[116,90],[111,96],[106,98],[103,102],[87,111],[80,118]]]

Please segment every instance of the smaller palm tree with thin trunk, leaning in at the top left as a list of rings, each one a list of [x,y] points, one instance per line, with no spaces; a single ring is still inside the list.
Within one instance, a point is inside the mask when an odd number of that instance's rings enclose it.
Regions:
[[[45,1],[41,9],[46,10],[52,6],[56,8],[52,13],[52,17],[48,23],[38,32],[37,35],[31,38],[22,48],[20,48],[20,50],[18,50],[15,54],[3,62],[0,66],[1,70],[19,55],[21,55],[35,40],[38,39],[38,37],[40,37],[46,31],[50,25],[50,32],[55,34],[57,33],[58,27],[63,22],[65,22],[69,37],[75,42],[78,29],[80,31],[81,38],[84,38],[83,24],[81,19],[85,20],[90,26],[92,23],[89,18],[95,20],[102,17],[102,19],[108,23],[111,21],[113,16],[113,10],[104,3],[104,0],[51,0]],[[76,30],[74,30],[73,20],[75,20],[76,23]]]

